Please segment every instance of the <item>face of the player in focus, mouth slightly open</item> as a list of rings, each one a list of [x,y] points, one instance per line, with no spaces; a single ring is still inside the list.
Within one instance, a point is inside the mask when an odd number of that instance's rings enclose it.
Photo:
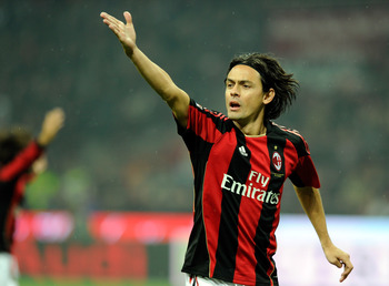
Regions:
[[[243,64],[230,70],[226,79],[226,108],[229,119],[241,126],[261,124],[268,98],[269,93],[263,93],[258,71]]]

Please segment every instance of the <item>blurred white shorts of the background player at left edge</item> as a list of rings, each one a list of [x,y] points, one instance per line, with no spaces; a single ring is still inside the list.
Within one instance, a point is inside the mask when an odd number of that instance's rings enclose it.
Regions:
[[[18,286],[19,266],[16,257],[9,253],[0,253],[0,285]]]

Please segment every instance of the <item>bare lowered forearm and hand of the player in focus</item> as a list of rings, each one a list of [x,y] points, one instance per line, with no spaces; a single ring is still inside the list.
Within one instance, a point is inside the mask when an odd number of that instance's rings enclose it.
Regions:
[[[295,186],[296,194],[301,203],[301,206],[312,223],[316,233],[319,236],[321,247],[329,263],[345,269],[339,282],[343,282],[351,273],[353,266],[350,261],[350,255],[336,247],[328,234],[326,214],[321,202],[320,191],[318,188],[306,186]]]

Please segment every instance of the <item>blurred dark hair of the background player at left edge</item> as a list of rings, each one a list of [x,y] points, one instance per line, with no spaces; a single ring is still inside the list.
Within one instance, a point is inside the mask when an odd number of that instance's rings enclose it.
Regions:
[[[0,166],[12,161],[31,140],[31,133],[21,126],[0,131]]]

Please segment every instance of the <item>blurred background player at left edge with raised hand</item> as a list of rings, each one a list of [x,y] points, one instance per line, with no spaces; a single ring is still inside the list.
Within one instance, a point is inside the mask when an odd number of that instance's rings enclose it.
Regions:
[[[63,126],[64,113],[46,114],[37,139],[21,127],[0,132],[0,285],[18,285],[18,264],[12,256],[16,213],[26,184],[46,170],[44,149]]]

